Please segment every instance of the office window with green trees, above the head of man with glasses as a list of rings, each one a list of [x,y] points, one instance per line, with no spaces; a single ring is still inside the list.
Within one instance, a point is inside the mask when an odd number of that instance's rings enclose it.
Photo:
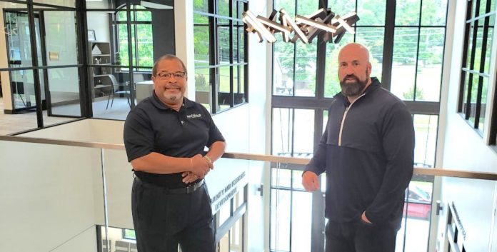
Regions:
[[[130,21],[126,9],[116,15],[120,64],[129,66],[129,46],[131,43],[131,59],[134,71],[151,71],[154,66],[154,44],[152,41],[152,15],[150,11],[139,5],[131,4]],[[128,29],[130,25],[130,29]],[[128,33],[131,31],[131,40]],[[118,62],[116,62],[118,64]],[[118,64],[119,65],[119,64]]]

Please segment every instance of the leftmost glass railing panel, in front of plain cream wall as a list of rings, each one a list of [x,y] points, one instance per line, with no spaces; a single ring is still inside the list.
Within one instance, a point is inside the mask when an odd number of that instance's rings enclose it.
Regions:
[[[0,141],[0,160],[0,251],[95,251],[98,148]]]

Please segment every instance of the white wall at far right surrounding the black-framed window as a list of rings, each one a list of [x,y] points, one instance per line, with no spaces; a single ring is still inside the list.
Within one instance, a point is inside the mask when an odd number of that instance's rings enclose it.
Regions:
[[[463,36],[465,24],[466,1],[449,1],[456,6],[456,12],[451,16],[453,31],[449,31],[448,41],[452,43],[452,51],[446,54],[446,72],[448,81],[443,85],[441,98],[440,136],[438,141],[438,157],[436,167],[456,170],[497,172],[497,152],[486,144],[488,141],[488,126],[484,129],[483,137],[457,114],[459,81],[461,75],[461,57],[463,52]],[[450,19],[449,19],[450,21]],[[453,33],[453,38],[450,34]],[[492,61],[489,85],[495,84],[497,39],[493,34]],[[450,44],[450,43],[449,43]],[[448,67],[447,67],[448,66]],[[447,74],[447,73],[446,73]],[[493,89],[488,90],[487,104],[492,104]],[[486,122],[490,123],[491,110],[486,111]],[[495,120],[495,119],[494,119]],[[441,200],[443,203],[454,202],[463,223],[466,235],[466,251],[490,251],[488,241],[491,240],[492,229],[495,228],[493,207],[496,201],[496,183],[478,180],[462,180],[446,178],[441,182]],[[478,206],[478,208],[475,208]],[[439,221],[436,236],[445,235],[443,221],[446,220],[447,209]],[[495,236],[495,235],[493,235]],[[494,243],[495,237],[493,237]],[[493,248],[495,251],[496,248]],[[441,250],[440,250],[441,251]]]

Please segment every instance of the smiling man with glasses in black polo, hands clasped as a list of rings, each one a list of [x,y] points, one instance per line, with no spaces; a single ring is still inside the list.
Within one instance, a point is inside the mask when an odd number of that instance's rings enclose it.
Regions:
[[[140,252],[215,251],[204,176],[226,143],[204,106],[184,97],[186,67],[174,55],[154,64],[154,92],[130,111],[124,145],[135,179],[131,208]],[[202,155],[204,147],[209,151]]]

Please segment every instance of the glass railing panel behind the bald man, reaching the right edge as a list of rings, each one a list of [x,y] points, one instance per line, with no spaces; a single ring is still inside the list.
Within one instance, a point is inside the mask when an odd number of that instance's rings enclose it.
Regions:
[[[320,179],[321,197],[316,197],[313,193],[303,191],[301,186],[303,166],[271,163],[271,167],[269,230],[271,251],[311,251],[312,247],[324,246],[324,236],[321,234],[326,225],[322,212],[325,206],[326,174],[321,175]],[[488,220],[491,220],[493,216],[496,181],[440,177],[443,210],[437,213],[437,202],[433,201],[433,181],[436,176],[426,174],[413,176],[406,188],[401,228],[397,233],[396,252],[431,251],[429,244],[436,244],[440,249],[444,243],[443,237],[440,238],[440,234],[431,236],[438,232],[431,229],[431,226],[436,227],[438,223],[438,226],[442,225],[438,229],[445,233],[443,230],[446,223],[443,223],[443,220],[447,218],[448,206],[451,204],[454,204],[451,208],[458,212],[458,214],[451,213],[453,222],[460,219],[463,223],[459,228],[459,243],[465,243],[466,249],[475,248],[472,251],[487,251],[488,244],[492,242],[489,241],[492,223]],[[478,209],[473,211],[475,205],[478,205]],[[455,217],[456,214],[458,217]],[[316,219],[321,220],[318,223],[322,223],[322,226],[316,225]],[[433,225],[432,221],[437,223]],[[447,225],[449,228],[456,229],[451,227],[455,224],[448,223]],[[471,239],[465,241],[465,237],[461,235],[462,228],[464,232],[472,234]],[[430,237],[440,241],[430,241]],[[459,246],[462,251],[461,244]]]

